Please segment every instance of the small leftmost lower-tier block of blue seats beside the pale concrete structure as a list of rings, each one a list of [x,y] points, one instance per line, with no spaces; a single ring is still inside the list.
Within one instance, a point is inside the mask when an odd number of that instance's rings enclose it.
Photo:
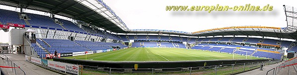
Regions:
[[[41,47],[39,47],[36,43],[31,43],[31,47],[34,48],[34,51],[40,58],[44,58],[46,56],[47,53],[42,50]]]

